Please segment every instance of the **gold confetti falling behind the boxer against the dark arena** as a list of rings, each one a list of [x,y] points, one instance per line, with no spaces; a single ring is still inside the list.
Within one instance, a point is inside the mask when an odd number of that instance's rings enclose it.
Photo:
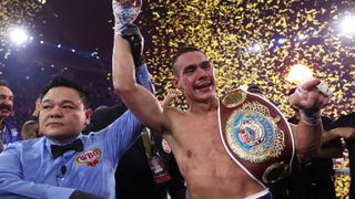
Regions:
[[[351,11],[352,0],[148,0],[139,23],[150,40],[146,56],[159,98],[171,87],[173,55],[194,44],[216,70],[219,95],[258,84],[291,116],[286,94],[296,85],[286,75],[303,64],[332,88],[323,114],[337,118],[355,111],[355,36],[337,28]],[[338,178],[337,190],[347,190],[348,181]]]

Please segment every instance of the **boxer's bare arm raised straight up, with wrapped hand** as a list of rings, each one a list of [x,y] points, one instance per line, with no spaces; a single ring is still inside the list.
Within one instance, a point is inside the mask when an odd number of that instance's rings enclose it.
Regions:
[[[113,0],[116,22],[112,57],[113,86],[143,125],[162,134],[169,129],[168,119],[155,96],[136,83],[131,43],[124,38],[124,31],[130,28],[128,24],[136,18],[138,13],[134,12],[140,10],[141,4],[141,0]]]

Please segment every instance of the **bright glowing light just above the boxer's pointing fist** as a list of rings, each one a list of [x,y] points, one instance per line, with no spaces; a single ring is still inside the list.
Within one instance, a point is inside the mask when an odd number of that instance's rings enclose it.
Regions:
[[[296,64],[291,66],[291,70],[288,72],[288,75],[286,76],[286,80],[288,82],[300,84],[304,80],[310,80],[312,77],[313,77],[313,72],[310,67],[302,64]]]

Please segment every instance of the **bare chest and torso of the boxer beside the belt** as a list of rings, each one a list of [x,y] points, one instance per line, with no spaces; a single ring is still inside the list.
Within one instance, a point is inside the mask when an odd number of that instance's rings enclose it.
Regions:
[[[217,117],[184,119],[174,136],[174,155],[192,198],[235,198],[260,190],[224,149]]]

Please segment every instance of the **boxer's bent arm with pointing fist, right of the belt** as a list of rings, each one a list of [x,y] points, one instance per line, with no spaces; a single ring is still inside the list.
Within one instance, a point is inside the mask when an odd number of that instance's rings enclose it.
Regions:
[[[321,148],[323,132],[321,108],[328,103],[329,98],[329,92],[324,86],[320,80],[311,80],[300,85],[290,96],[291,104],[296,106],[301,113],[298,125],[293,127],[301,161],[312,158]]]

